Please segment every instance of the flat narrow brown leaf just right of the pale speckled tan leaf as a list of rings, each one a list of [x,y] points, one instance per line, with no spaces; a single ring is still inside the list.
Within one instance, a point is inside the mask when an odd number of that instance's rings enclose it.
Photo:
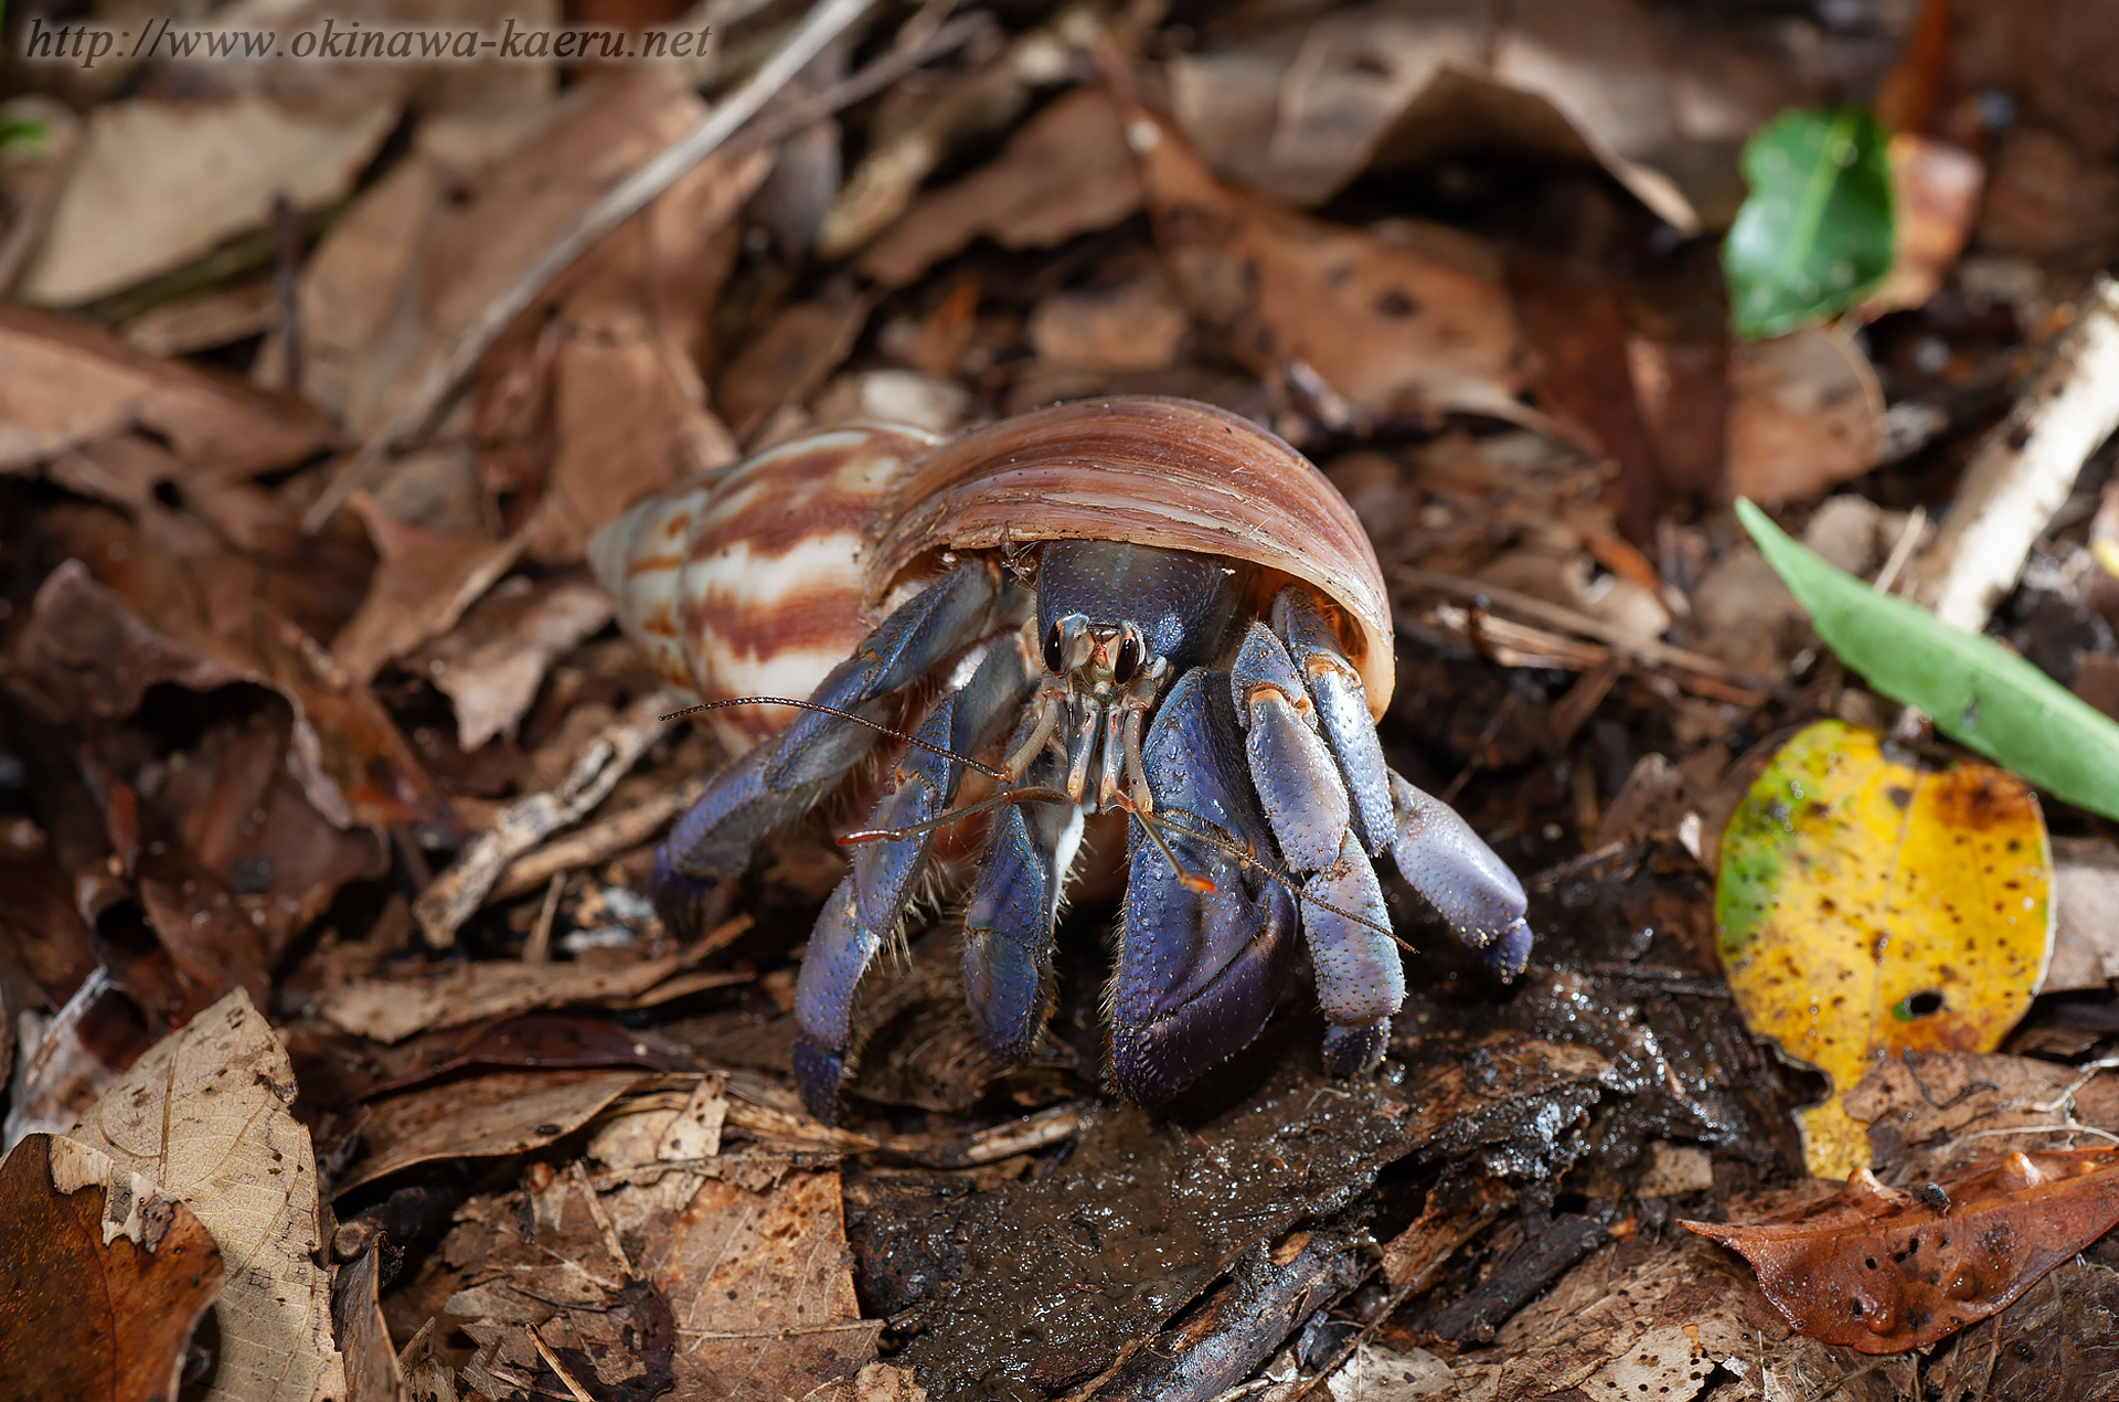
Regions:
[[[341,1196],[437,1158],[500,1158],[564,1139],[631,1090],[644,1071],[498,1071],[394,1094],[369,1109],[369,1152],[333,1184]]]

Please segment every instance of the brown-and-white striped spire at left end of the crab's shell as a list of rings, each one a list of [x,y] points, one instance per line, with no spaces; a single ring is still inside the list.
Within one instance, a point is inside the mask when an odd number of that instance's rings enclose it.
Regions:
[[[619,624],[701,700],[809,696],[879,621],[862,609],[873,522],[924,428],[812,433],[678,481],[589,539]],[[742,753],[795,717],[731,706],[710,723]]]

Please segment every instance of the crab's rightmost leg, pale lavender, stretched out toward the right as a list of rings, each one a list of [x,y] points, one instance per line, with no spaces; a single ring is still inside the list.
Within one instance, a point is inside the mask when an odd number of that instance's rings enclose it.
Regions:
[[[1524,887],[1449,804],[1430,798],[1384,764],[1369,721],[1360,674],[1346,660],[1307,585],[1288,585],[1274,600],[1274,628],[1288,643],[1316,702],[1318,725],[1354,795],[1363,846],[1392,861],[1407,882],[1449,921],[1481,963],[1502,980],[1530,959]]]

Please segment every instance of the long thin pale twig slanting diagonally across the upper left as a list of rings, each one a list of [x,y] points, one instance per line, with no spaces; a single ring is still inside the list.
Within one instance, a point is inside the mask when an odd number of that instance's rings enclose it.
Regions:
[[[479,363],[479,356],[521,316],[553,278],[574,265],[600,238],[638,214],[657,195],[676,185],[693,165],[712,155],[735,129],[750,121],[773,93],[788,85],[809,59],[860,19],[875,0],[822,0],[812,8],[786,42],[765,59],[765,66],[720,106],[708,112],[691,132],[648,157],[634,174],[619,180],[593,206],[568,225],[504,293],[485,303],[477,320],[456,333],[441,356],[420,375],[420,382],[398,401],[396,414],[384,422],[360,450],[345,460],[324,492],[303,513],[301,528],[322,530],[345,498],[358,488],[384,456],[407,437],[426,428],[434,411]]]

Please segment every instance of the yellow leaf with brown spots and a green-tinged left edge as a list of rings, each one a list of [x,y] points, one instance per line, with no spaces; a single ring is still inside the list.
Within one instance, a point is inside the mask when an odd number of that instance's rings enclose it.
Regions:
[[[1882,1056],[1992,1052],[2045,976],[2051,857],[2030,787],[1918,768],[1820,721],[1738,804],[1714,921],[1744,1022],[1833,1082],[1799,1111],[1816,1177],[1869,1164],[1841,1092]]]

